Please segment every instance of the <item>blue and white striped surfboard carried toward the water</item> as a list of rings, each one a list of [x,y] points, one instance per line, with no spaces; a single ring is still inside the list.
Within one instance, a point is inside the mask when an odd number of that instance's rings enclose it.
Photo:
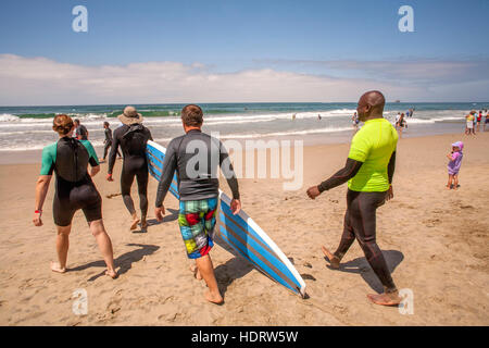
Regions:
[[[147,156],[151,175],[160,181],[166,149],[154,141],[148,141]],[[178,181],[173,177],[170,191],[177,199]],[[305,296],[305,283],[292,263],[281,252],[268,235],[241,210],[234,215],[230,209],[231,199],[220,189],[220,212],[217,215],[214,240],[224,243],[226,247],[244,257],[260,272],[287,289]]]

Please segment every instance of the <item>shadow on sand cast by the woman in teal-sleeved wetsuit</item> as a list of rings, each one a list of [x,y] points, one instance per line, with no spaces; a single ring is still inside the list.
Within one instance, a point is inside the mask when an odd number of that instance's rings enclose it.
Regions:
[[[154,253],[160,247],[142,244],[127,244],[128,247],[138,247],[138,249],[123,253],[114,260],[115,269],[120,268],[117,274],[124,274],[133,268],[133,263],[141,261],[143,257]],[[77,268],[67,270],[68,272],[84,271],[89,268],[103,268],[103,272],[91,276],[88,282],[93,282],[105,274],[105,262],[103,260],[89,262]]]

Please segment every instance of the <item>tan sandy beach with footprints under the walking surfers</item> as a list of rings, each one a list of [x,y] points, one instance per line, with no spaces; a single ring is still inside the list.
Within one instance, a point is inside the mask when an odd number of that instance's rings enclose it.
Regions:
[[[447,190],[450,145],[465,144],[457,190]],[[166,145],[166,144],[163,144]],[[104,263],[78,211],[73,221],[70,272],[55,274],[53,183],[42,227],[32,223],[39,164],[0,165],[3,222],[0,234],[0,325],[488,325],[489,132],[404,138],[398,145],[393,200],[377,212],[377,240],[400,289],[414,295],[414,313],[372,304],[381,290],[358,243],[339,271],[327,268],[321,246],[335,249],[342,232],[346,185],[310,200],[305,189],[340,169],[349,145],[304,148],[304,182],[284,191],[280,179],[241,179],[243,209],[276,241],[306,283],[309,299],[289,293],[220,246],[211,256],[224,306],[203,299],[205,285],[189,272],[177,225],[175,198],[165,200],[163,223],[153,215],[156,182],[149,185],[148,233],[128,231],[106,163],[95,183],[120,272]],[[22,156],[22,154],[20,154]],[[225,181],[221,187],[228,191]],[[138,206],[136,185],[134,198]],[[75,315],[73,293],[88,294],[88,313]]]

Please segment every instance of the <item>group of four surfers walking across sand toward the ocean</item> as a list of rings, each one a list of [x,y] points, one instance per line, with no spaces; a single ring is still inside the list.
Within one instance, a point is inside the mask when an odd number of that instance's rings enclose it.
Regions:
[[[342,258],[356,239],[366,260],[384,285],[384,293],[368,295],[368,299],[377,304],[396,306],[400,303],[401,298],[376,243],[376,210],[393,197],[391,184],[398,141],[394,127],[383,116],[385,102],[384,95],[376,90],[367,91],[360,98],[356,111],[364,126],[352,139],[344,167],[323,183],[310,187],[306,195],[311,199],[316,199],[325,191],[348,182],[347,211],[339,246],[335,252],[323,247],[323,253],[331,269],[340,269]],[[126,107],[118,115],[118,120],[123,126],[116,128],[111,137],[106,179],[113,181],[115,159],[121,148],[123,154],[121,192],[124,204],[131,215],[130,229],[140,225],[141,229],[146,231],[149,178],[146,147],[148,140],[152,140],[152,136],[142,125],[142,115],[133,107]],[[196,278],[203,278],[208,285],[205,299],[213,303],[223,303],[224,299],[209,253],[214,245],[213,231],[218,201],[218,175],[215,173],[221,169],[226,177],[233,192],[230,207],[234,214],[241,209],[238,179],[224,145],[202,132],[203,112],[200,107],[188,104],[183,108],[181,124],[185,134],[172,139],[167,146],[154,202],[154,214],[158,221],[163,220],[164,199],[176,172],[180,196],[178,225],[187,257],[195,260],[191,270]],[[66,272],[72,220],[74,213],[82,209],[105,261],[105,274],[116,278],[112,241],[103,225],[102,198],[92,181],[100,172],[99,159],[88,140],[73,137],[76,125],[68,115],[57,115],[52,128],[58,133],[59,139],[42,150],[33,217],[36,226],[42,225],[42,207],[54,172],[57,183],[52,213],[58,232],[55,243],[58,262],[51,263],[51,270],[59,273]],[[188,145],[195,144],[193,140],[203,145],[208,158],[215,157],[218,160],[199,162],[196,171],[192,161],[202,148],[188,151]],[[105,144],[104,158],[108,150]],[[130,196],[135,178],[138,185],[140,215]]]

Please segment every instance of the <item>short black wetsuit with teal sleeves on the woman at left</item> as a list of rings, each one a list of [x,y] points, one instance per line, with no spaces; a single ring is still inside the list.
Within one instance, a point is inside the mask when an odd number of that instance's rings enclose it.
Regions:
[[[57,176],[53,215],[58,226],[70,225],[78,209],[83,209],[88,222],[102,219],[102,200],[87,172],[88,164],[99,165],[88,140],[63,137],[42,150],[40,175],[54,172]]]

